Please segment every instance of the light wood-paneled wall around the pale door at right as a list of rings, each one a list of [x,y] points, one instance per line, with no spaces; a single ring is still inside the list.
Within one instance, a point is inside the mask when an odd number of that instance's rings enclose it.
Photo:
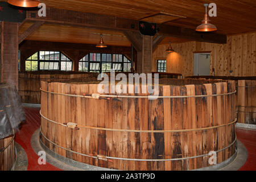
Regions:
[[[216,76],[256,76],[256,32],[228,35],[226,44],[204,42],[173,43],[176,52],[167,54],[168,44],[161,44],[153,52],[152,71],[156,71],[156,60],[166,59],[166,72],[181,73],[183,77],[193,75],[193,53],[210,52],[210,74],[214,68]]]

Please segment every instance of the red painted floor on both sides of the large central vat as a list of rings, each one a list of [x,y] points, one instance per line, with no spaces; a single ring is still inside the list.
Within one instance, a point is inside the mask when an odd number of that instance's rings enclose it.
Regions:
[[[28,171],[60,171],[61,169],[47,163],[46,165],[38,164],[38,155],[31,147],[30,140],[35,130],[40,127],[41,119],[39,114],[40,109],[24,107],[26,113],[26,123],[22,125],[19,132],[16,134],[15,141],[24,148],[28,157]],[[256,131],[236,129],[237,139],[240,140],[248,151],[248,159],[246,163],[239,169],[243,171],[256,170]]]

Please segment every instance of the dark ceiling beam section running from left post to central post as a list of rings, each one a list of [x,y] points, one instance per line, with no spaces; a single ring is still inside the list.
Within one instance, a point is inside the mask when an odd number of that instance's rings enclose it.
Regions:
[[[49,7],[46,8],[45,17],[39,17],[37,11],[27,11],[26,19],[76,27],[102,28],[119,31],[139,30],[138,20],[119,18],[117,16],[84,13],[72,10],[55,9]]]

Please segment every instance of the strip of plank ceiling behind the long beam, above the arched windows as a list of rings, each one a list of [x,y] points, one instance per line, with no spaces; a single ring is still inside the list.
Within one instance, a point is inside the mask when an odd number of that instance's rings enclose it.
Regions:
[[[19,28],[19,35],[26,31],[33,23],[23,23]],[[61,26],[44,23],[34,31],[26,40],[38,40],[48,42],[84,43],[98,44],[100,35],[103,35],[104,43],[109,46],[131,46],[131,43],[122,32],[111,30],[100,30],[94,28],[81,28],[71,26]],[[168,42],[186,42],[187,39],[166,37],[161,44]]]

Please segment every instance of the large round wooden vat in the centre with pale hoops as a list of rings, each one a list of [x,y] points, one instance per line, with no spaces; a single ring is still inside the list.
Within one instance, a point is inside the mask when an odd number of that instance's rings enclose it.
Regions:
[[[96,99],[97,84],[42,81],[42,144],[66,158],[122,170],[208,167],[210,151],[224,162],[236,152],[235,82],[181,82],[169,79],[159,85],[160,97],[149,100],[141,92]]]

